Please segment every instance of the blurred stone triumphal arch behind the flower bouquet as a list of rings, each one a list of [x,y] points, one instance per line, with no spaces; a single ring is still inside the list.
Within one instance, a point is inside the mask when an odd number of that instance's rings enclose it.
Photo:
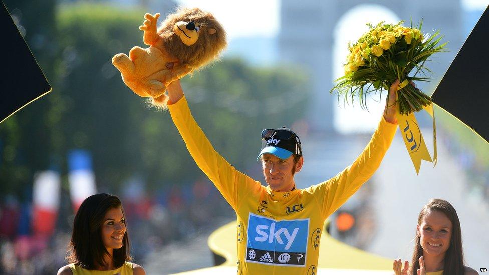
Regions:
[[[308,70],[312,98],[307,120],[314,132],[333,130],[333,103],[337,98],[329,90],[333,87],[334,29],[345,13],[362,4],[381,5],[406,22],[412,18],[417,23],[422,18],[423,32],[441,29],[450,52],[429,64],[435,77],[443,76],[465,40],[461,37],[460,0],[281,0],[279,59]]]

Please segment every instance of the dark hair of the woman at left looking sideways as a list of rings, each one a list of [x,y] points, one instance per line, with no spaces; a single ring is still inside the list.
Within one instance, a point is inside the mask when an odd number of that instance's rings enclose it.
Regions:
[[[96,194],[86,198],[80,205],[73,221],[73,233],[68,245],[70,263],[75,263],[85,269],[94,269],[95,263],[105,266],[104,255],[109,254],[101,236],[101,227],[107,211],[120,208],[124,215],[122,203],[117,196]],[[129,255],[129,237],[126,233],[122,238],[122,247],[112,253],[114,266],[120,267],[131,259]]]

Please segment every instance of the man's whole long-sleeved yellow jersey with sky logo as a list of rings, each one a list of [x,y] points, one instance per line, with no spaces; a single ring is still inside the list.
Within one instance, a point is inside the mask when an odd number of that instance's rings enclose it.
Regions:
[[[214,150],[185,97],[168,109],[193,159],[236,212],[238,274],[316,274],[324,221],[377,170],[396,132],[382,118],[362,154],[341,173],[306,189],[276,192]]]

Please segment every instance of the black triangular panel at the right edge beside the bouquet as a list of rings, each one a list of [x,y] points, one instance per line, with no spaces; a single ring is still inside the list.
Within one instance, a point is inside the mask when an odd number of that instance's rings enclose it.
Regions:
[[[489,142],[489,7],[451,63],[433,101]]]

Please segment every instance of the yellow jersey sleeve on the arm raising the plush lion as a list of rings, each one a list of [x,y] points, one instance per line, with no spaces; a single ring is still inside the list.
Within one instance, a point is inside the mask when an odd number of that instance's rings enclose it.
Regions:
[[[261,184],[230,165],[215,150],[190,113],[185,96],[168,105],[171,118],[197,166],[214,183],[236,211],[240,198]]]

